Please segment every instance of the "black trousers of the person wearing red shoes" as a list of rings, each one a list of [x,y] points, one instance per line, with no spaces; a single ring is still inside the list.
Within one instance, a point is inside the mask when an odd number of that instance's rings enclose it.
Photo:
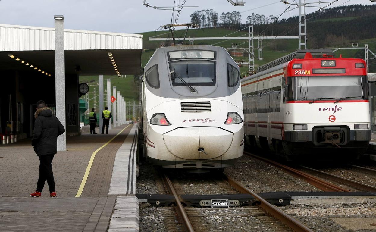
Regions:
[[[42,192],[44,184],[47,180],[50,193],[55,192],[55,180],[52,172],[52,159],[55,154],[41,155],[39,157],[39,179],[36,191]]]

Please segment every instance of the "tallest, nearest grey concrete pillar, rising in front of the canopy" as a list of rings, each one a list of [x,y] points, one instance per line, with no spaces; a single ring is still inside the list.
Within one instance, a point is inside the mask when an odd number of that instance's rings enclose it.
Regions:
[[[64,16],[55,15],[55,95],[56,117],[65,130],[65,47],[64,47]],[[58,151],[67,150],[65,134],[58,136]]]

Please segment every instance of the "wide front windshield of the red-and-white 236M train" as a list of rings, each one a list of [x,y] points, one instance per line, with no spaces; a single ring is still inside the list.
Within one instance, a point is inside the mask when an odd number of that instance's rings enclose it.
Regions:
[[[368,98],[365,76],[295,76],[288,78],[288,85],[287,97],[295,101]]]

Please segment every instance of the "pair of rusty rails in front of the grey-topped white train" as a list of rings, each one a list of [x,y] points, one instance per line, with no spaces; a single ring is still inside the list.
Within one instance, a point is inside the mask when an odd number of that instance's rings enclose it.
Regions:
[[[167,191],[173,194],[176,206],[175,210],[179,218],[180,223],[183,225],[185,231],[208,231],[203,225],[200,218],[202,217],[201,212],[207,209],[202,208],[191,208],[184,207],[182,204],[183,200],[179,195],[182,190],[178,185],[177,181],[171,181],[168,177],[168,174],[162,173],[163,182],[166,183]],[[218,176],[217,176],[218,177]],[[259,202],[257,206],[236,208],[237,211],[241,211],[240,217],[257,217],[262,223],[273,224],[275,231],[312,231],[304,224],[297,221],[292,216],[286,214],[284,211],[278,209],[276,206],[271,205],[265,199],[260,197],[258,194],[249,190],[247,187],[244,187],[240,182],[234,180],[230,176],[223,174],[223,176],[218,177],[215,180],[218,185],[226,188],[231,193],[246,193],[251,194]],[[226,187],[227,186],[227,187]],[[176,190],[178,189],[178,191]],[[201,211],[201,212],[200,212]],[[219,213],[219,212],[218,212]]]

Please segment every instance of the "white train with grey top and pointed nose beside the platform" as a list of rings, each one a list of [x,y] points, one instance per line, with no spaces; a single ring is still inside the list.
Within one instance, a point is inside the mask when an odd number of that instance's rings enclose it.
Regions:
[[[142,83],[144,156],[165,168],[224,168],[243,155],[239,67],[223,47],[155,51]]]

